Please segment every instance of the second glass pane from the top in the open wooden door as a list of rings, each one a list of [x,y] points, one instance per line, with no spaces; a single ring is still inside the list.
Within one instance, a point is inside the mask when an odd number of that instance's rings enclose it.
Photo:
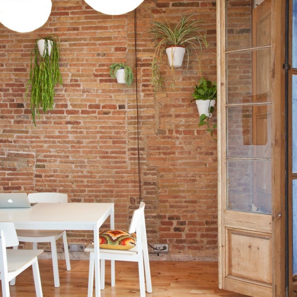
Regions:
[[[271,49],[226,55],[227,104],[271,101]]]

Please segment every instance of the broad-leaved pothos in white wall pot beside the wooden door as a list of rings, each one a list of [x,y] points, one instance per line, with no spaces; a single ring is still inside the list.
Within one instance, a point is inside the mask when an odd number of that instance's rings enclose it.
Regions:
[[[215,81],[205,80],[205,78],[202,77],[198,84],[196,84],[192,97],[194,97],[194,99],[192,99],[191,102],[196,102],[200,114],[199,127],[206,125],[207,129],[205,131],[210,132],[213,140],[216,140],[213,137],[213,131],[217,128],[217,124],[211,127],[209,118],[211,118],[213,114],[214,105],[217,101],[217,83]]]

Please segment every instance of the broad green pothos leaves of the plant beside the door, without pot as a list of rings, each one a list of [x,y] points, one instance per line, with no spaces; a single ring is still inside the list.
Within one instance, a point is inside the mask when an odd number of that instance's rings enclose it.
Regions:
[[[191,102],[196,101],[196,100],[209,100],[209,106],[208,106],[208,111],[209,115],[201,114],[199,117],[199,126],[207,126],[207,129],[205,131],[208,131],[213,138],[213,140],[216,140],[213,137],[213,132],[217,128],[217,124],[214,124],[212,127],[209,124],[209,118],[213,113],[214,107],[210,106],[210,101],[211,100],[217,100],[217,83],[212,82],[210,80],[205,80],[204,77],[202,77],[199,80],[198,85],[196,84],[195,91],[192,94],[194,99],[191,100]]]

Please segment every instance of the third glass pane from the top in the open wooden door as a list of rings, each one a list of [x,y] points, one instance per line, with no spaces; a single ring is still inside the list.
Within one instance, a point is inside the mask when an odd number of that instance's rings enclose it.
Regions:
[[[227,157],[271,158],[271,105],[228,106]]]

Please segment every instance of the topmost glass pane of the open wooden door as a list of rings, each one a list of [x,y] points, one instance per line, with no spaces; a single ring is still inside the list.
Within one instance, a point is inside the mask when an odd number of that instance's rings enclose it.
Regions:
[[[227,51],[271,45],[270,32],[271,0],[226,1]]]

